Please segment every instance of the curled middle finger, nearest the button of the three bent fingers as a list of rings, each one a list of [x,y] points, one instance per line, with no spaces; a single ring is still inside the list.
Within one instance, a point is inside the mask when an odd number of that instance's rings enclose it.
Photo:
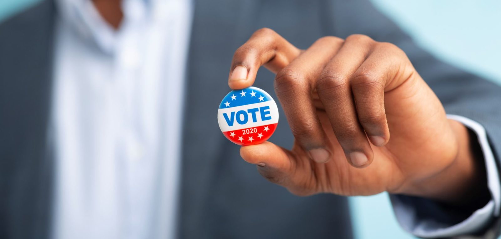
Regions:
[[[312,89],[322,69],[342,44],[343,40],[338,37],[320,38],[282,69],[275,80],[275,91],[292,133],[316,162],[328,161],[331,152],[312,101]]]

